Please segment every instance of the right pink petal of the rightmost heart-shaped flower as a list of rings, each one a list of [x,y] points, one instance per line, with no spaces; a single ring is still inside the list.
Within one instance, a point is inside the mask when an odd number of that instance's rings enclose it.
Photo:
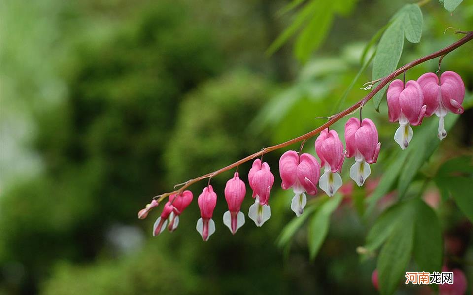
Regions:
[[[446,71],[440,77],[443,105],[455,114],[463,113],[463,99],[465,98],[465,84],[455,72]],[[452,100],[455,101],[452,103]]]

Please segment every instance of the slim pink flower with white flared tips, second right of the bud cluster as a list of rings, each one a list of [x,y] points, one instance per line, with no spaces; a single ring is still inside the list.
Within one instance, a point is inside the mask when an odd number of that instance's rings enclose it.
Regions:
[[[223,214],[223,224],[235,235],[236,231],[245,224],[245,214],[240,212],[240,208],[245,198],[246,187],[238,177],[238,172],[235,172],[233,178],[227,181],[224,192],[228,211]]]

